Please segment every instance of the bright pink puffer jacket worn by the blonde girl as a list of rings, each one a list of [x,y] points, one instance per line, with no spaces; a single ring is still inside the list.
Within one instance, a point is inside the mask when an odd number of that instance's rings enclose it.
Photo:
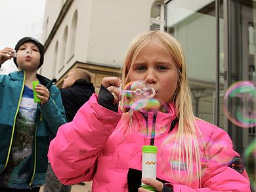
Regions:
[[[166,162],[172,157],[172,143],[177,133],[178,123],[169,132],[169,127],[175,119],[174,106],[169,105],[169,113],[148,115],[148,133],[156,125],[154,145],[158,146],[157,178],[173,183],[173,191],[250,191],[249,179],[245,170],[237,172],[228,166],[228,162],[239,156],[232,149],[232,142],[221,128],[197,121],[205,150],[200,146],[202,154],[202,187],[200,180],[194,179],[189,185],[171,174],[177,173],[181,167],[181,175],[185,174],[184,164],[175,163],[172,166]],[[93,191],[128,191],[127,172],[129,168],[141,170],[142,145],[150,145],[150,138],[137,128],[146,127],[146,121],[139,112],[133,114],[131,132],[120,128],[123,125],[121,111],[115,113],[100,105],[94,94],[75,115],[74,121],[60,126],[56,138],[51,142],[48,157],[53,170],[64,184],[79,183],[93,180]],[[153,122],[156,122],[154,124]],[[127,133],[127,134],[126,134]],[[126,134],[126,136],[125,136]],[[202,141],[198,140],[202,145]]]

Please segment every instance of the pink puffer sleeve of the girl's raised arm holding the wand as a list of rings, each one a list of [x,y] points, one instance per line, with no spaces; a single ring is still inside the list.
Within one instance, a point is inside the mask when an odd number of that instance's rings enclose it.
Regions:
[[[120,118],[121,111],[116,113],[100,106],[94,94],[77,111],[72,122],[60,126],[48,153],[60,182],[93,180],[97,157]]]

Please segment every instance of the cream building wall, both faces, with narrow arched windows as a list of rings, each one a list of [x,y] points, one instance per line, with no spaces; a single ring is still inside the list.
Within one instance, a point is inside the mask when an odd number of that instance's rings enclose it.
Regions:
[[[75,0],[45,52],[41,74],[59,79],[76,61],[121,66],[132,39],[150,29],[150,10],[153,2],[154,0]],[[59,2],[47,1],[46,7],[50,9],[46,10],[45,20],[49,16],[51,21],[47,31],[51,31],[53,21],[56,21],[58,11],[53,12],[55,10],[53,7],[57,7],[58,10],[58,5]],[[64,68],[58,72],[60,64],[55,64],[57,69],[54,75],[52,70],[54,47],[58,41],[58,63],[66,26],[68,26],[67,47],[70,43],[70,29],[75,10],[77,10],[77,37],[74,57],[68,58],[67,50]]]

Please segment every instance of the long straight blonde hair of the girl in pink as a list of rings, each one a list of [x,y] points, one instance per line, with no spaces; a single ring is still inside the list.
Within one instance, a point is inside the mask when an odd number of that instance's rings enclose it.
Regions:
[[[200,148],[198,144],[198,133],[202,136],[198,126],[196,125],[196,120],[192,111],[192,102],[190,98],[190,89],[187,83],[186,77],[186,63],[184,60],[184,53],[182,51],[180,43],[166,32],[161,31],[148,31],[146,33],[142,33],[131,43],[130,47],[127,50],[127,54],[125,57],[124,67],[123,67],[123,76],[122,82],[124,85],[129,83],[130,81],[130,68],[132,64],[135,62],[135,59],[152,41],[158,41],[166,48],[171,55],[173,56],[173,60],[178,69],[178,85],[173,96],[173,102],[175,103],[175,111],[177,117],[179,118],[179,128],[177,130],[177,135],[175,138],[176,145],[174,148],[173,157],[171,157],[171,161],[176,161],[179,159],[179,163],[184,163],[184,159],[181,162],[181,159],[184,157],[186,159],[186,180],[181,177],[181,166],[179,166],[179,175],[175,176],[178,182],[189,184],[192,182],[193,178],[193,170],[194,170],[194,158],[196,162],[196,176],[200,180],[200,185],[202,183],[202,170],[201,170],[201,162],[200,162]],[[126,112],[124,106],[121,105],[121,108]],[[133,111],[128,111],[128,117],[131,117]],[[125,123],[128,123],[128,129],[131,128],[132,120],[129,118]],[[128,131],[127,131],[128,132]],[[125,134],[126,135],[126,134]],[[174,157],[176,154],[176,157]],[[178,156],[177,156],[178,154]],[[175,159],[176,158],[176,159]],[[172,174],[173,168],[171,167]],[[174,176],[174,174],[173,174]],[[185,182],[184,182],[185,181]]]

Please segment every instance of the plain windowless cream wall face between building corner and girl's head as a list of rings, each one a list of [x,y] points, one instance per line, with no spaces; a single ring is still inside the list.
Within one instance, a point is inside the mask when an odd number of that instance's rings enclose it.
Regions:
[[[152,0],[94,0],[88,61],[121,65],[129,43],[150,29]]]

